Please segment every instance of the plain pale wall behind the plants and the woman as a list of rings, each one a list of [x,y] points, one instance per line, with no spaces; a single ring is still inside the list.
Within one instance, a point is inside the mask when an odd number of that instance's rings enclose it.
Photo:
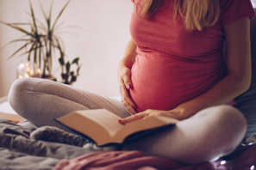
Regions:
[[[37,18],[44,21],[38,0],[31,2]],[[54,1],[53,19],[66,2]],[[48,11],[52,0],[41,0],[41,3]],[[0,0],[0,21],[27,22],[29,16],[26,10],[29,11],[28,0]],[[59,23],[66,21],[64,27],[76,25],[84,28],[84,31],[67,28],[63,30],[66,33],[60,34],[65,42],[67,57],[70,60],[80,57],[83,64],[78,81],[73,86],[106,96],[119,95],[116,69],[130,39],[128,25],[132,10],[130,0],[72,0],[69,3]],[[21,36],[22,33],[0,24],[0,47]],[[27,57],[18,56],[7,59],[19,46],[13,44],[0,51],[0,97],[9,93],[11,83],[16,80],[16,68],[27,60]],[[58,57],[53,62],[53,74],[59,77]]]

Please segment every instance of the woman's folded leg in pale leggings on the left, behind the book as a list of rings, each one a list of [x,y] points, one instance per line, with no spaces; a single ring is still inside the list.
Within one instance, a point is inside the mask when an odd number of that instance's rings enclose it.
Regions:
[[[131,115],[120,100],[38,78],[16,80],[9,91],[9,105],[38,127],[51,125],[65,131],[70,130],[53,121],[53,118],[59,118],[76,110],[104,108],[121,118]]]

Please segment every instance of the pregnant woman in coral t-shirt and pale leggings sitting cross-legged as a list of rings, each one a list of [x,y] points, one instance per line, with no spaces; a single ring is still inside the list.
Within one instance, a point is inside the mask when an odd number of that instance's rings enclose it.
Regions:
[[[247,117],[251,113],[237,109],[236,100],[251,83],[250,0],[132,2],[132,39],[118,66],[122,101],[22,78],[10,89],[10,105],[38,127],[61,129],[53,118],[74,110],[105,108],[121,124],[155,115],[177,118],[175,127],[122,149],[187,164],[230,154],[256,131],[256,113]]]

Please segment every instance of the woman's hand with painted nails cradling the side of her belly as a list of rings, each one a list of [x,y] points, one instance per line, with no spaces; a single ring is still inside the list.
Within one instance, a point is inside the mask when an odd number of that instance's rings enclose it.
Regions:
[[[128,112],[132,114],[137,113],[136,105],[134,101],[130,98],[129,89],[133,88],[133,83],[131,81],[131,69],[122,64],[122,61],[118,65],[117,70],[119,90],[122,97],[122,105],[126,107]]]

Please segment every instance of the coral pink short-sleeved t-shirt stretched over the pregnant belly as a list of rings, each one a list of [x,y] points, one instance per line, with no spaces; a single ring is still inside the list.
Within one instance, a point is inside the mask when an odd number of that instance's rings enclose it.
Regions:
[[[253,17],[250,0],[220,0],[219,20],[187,32],[184,19],[172,20],[173,0],[164,0],[150,19],[140,19],[141,0],[132,0],[130,33],[138,56],[132,68],[131,98],[138,112],[171,110],[212,88],[227,76],[223,24]]]

